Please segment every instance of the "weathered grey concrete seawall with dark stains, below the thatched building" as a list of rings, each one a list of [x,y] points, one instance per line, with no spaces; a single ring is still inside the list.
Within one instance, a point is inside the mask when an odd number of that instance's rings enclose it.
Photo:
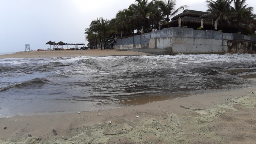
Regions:
[[[165,28],[127,39],[117,39],[114,48],[148,48],[165,54],[256,53],[256,37],[191,28]]]

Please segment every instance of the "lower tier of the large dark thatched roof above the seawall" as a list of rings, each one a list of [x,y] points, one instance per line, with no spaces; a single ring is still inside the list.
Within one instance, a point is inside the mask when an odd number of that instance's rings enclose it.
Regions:
[[[182,23],[190,23],[190,24],[201,24],[201,19],[202,18],[193,17],[193,16],[184,16],[181,18],[181,22]],[[176,19],[176,20],[173,20],[170,22],[171,25],[174,25],[176,23],[177,24],[179,23],[179,19]],[[204,25],[212,25],[212,21],[203,19],[203,24]]]

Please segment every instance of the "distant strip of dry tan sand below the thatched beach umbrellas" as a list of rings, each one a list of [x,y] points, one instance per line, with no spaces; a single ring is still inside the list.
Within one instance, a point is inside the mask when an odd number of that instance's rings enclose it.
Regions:
[[[125,51],[119,49],[87,49],[82,51],[32,51],[0,55],[3,58],[49,58],[49,57],[78,57],[78,56],[114,56],[114,55],[151,55],[148,53]]]

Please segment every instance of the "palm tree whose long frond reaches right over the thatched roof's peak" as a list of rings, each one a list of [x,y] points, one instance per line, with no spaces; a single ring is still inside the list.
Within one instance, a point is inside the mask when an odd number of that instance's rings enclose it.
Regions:
[[[176,7],[176,0],[157,0],[156,4],[159,8],[159,10],[162,12],[162,16],[164,17],[168,28],[169,26],[169,21],[171,19],[171,17],[177,15],[177,13],[179,13],[180,11],[183,11],[185,8],[188,8],[187,5],[182,5],[180,6],[180,8],[178,8],[177,10],[175,10]]]

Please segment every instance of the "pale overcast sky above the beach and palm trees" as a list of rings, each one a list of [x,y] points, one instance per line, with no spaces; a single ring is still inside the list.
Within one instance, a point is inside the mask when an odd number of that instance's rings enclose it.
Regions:
[[[135,0],[0,0],[0,53],[47,49],[48,41],[85,43],[85,28],[100,16],[114,18]],[[177,6],[206,11],[205,0],[177,0]],[[256,9],[255,0],[247,0]],[[255,13],[255,11],[254,11]]]

